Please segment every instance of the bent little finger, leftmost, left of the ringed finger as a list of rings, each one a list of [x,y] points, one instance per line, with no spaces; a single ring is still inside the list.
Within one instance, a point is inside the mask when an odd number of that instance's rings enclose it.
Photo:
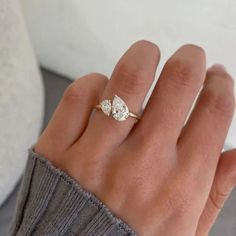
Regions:
[[[65,91],[52,119],[35,146],[48,158],[69,148],[84,131],[92,107],[98,102],[108,79],[89,74],[73,82]]]

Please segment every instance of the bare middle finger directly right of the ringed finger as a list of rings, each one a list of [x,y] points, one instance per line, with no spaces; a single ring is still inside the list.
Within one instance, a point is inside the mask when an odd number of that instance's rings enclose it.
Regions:
[[[138,127],[140,135],[176,143],[205,79],[205,61],[204,51],[194,45],[181,47],[167,61]]]

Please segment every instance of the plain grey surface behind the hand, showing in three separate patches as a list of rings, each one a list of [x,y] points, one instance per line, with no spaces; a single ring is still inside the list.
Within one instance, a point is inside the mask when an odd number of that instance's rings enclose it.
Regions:
[[[71,83],[70,80],[43,71],[45,92],[46,92],[46,106],[44,127],[48,123],[53,111],[55,110],[65,88]],[[18,186],[5,204],[0,207],[0,236],[8,235],[8,227],[14,214],[14,207],[16,202],[16,193]],[[217,220],[210,236],[235,236],[236,235],[236,191],[232,194],[229,201],[226,203],[220,217]]]

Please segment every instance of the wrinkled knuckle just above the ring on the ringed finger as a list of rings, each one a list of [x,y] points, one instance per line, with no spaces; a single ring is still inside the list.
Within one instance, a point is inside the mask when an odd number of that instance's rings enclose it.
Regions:
[[[145,86],[145,74],[137,64],[133,62],[120,63],[117,68],[116,76],[119,81],[116,89],[127,94],[138,94]],[[118,87],[118,88],[117,88]]]

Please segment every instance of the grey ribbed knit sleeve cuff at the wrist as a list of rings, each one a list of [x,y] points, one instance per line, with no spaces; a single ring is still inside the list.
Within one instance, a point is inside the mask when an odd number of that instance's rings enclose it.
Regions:
[[[29,150],[12,236],[136,235],[93,194]]]

